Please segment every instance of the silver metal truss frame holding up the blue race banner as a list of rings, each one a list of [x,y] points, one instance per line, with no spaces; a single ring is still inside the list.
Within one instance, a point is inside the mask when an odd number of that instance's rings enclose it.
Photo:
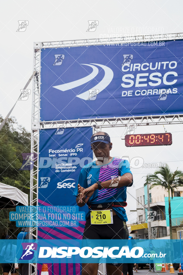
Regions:
[[[123,44],[130,42],[145,42],[145,41],[168,41],[183,39],[183,33],[158,34],[158,35],[143,35],[132,37],[107,37],[97,39],[83,39],[70,41],[56,42],[34,42],[34,65],[33,71],[36,74],[33,78],[32,92],[32,126],[31,126],[31,153],[36,153],[39,156],[39,130],[49,128],[75,128],[75,127],[92,127],[93,133],[107,127],[126,127],[129,124],[137,126],[159,125],[159,124],[179,124],[183,123],[183,114],[174,115],[156,115],[156,116],[136,116],[136,117],[118,117],[118,118],[91,118],[77,120],[61,120],[61,121],[40,121],[40,84],[41,84],[41,50],[45,48],[57,47],[78,47],[78,46],[98,46],[109,44]],[[30,206],[38,205],[38,161],[34,162],[34,169],[30,171]],[[37,239],[37,227],[29,228],[29,239]],[[35,271],[32,272],[32,266]],[[103,266],[103,273],[105,267]],[[29,275],[37,275],[37,265],[29,264]]]

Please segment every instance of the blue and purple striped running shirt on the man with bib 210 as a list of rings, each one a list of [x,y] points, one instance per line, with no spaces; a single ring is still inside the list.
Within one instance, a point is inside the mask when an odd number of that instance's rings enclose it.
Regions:
[[[97,181],[107,181],[118,176],[122,176],[125,173],[131,173],[130,164],[127,160],[113,158],[112,161],[105,165],[96,165],[95,161],[89,163],[83,167],[79,174],[79,179],[77,185],[84,188],[88,188]],[[133,183],[128,185],[132,186]],[[78,195],[78,186],[76,185],[74,196]],[[99,204],[99,203],[108,203],[108,202],[126,202],[127,186],[120,188],[107,188],[101,190],[95,190],[94,194],[89,198],[90,203]],[[123,207],[113,207],[113,210],[116,214],[124,221],[127,222],[126,211]],[[90,212],[86,214],[86,219],[89,218]]]

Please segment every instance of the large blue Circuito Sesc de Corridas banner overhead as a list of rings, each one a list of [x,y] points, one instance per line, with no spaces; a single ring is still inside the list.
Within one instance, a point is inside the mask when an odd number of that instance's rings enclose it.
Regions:
[[[182,40],[42,49],[41,121],[183,113],[182,57]]]

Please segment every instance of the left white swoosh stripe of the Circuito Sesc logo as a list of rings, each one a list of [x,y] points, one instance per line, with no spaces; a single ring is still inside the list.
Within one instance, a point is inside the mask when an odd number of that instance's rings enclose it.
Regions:
[[[81,65],[86,65],[86,66],[89,66],[89,67],[93,68],[93,72],[90,73],[88,76],[86,76],[84,78],[81,78],[81,79],[78,79],[76,81],[72,81],[72,82],[69,82],[69,83],[53,86],[53,88],[56,88],[56,89],[64,92],[64,91],[76,88],[80,85],[83,85],[83,84],[89,82],[90,80],[95,78],[96,75],[99,73],[99,69],[95,66],[92,66],[92,65],[89,65],[89,64],[81,64]],[[99,66],[102,66],[102,65],[99,65]]]

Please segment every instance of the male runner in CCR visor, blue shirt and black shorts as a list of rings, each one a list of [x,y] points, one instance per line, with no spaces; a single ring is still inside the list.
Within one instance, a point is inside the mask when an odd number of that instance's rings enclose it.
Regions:
[[[130,165],[127,160],[110,156],[112,143],[107,133],[95,133],[90,141],[97,160],[81,170],[74,192],[78,206],[82,207],[85,203],[89,206],[83,239],[128,239],[128,219],[123,207],[127,205],[127,186],[132,186]],[[113,223],[91,224],[90,210],[110,209]],[[121,263],[107,263],[106,268],[107,275],[122,274]],[[82,275],[97,275],[97,272],[98,263],[82,264]]]

